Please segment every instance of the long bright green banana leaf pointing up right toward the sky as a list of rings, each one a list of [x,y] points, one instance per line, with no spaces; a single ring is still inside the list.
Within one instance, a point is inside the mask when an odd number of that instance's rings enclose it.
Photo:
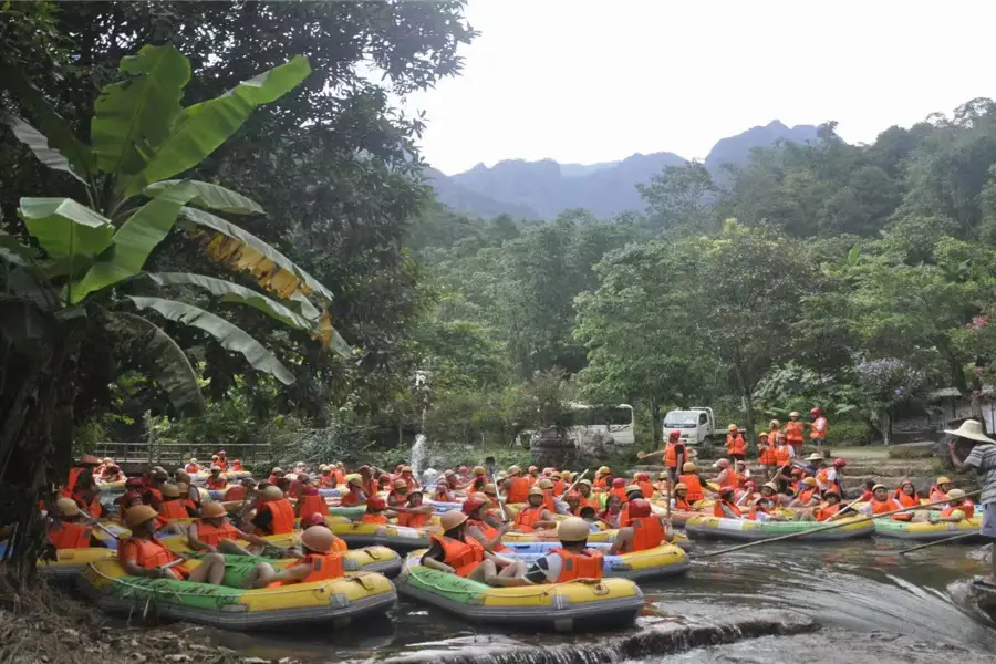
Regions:
[[[309,73],[308,60],[299,55],[239,83],[219,97],[184,108],[169,136],[149,159],[142,181],[125,194],[135,194],[151,183],[193,168],[235,134],[257,106],[279,100]]]

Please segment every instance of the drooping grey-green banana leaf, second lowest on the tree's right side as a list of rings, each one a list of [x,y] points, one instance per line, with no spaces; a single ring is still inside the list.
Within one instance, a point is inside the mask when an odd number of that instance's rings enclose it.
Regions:
[[[128,295],[128,299],[138,309],[153,309],[172,321],[204,330],[214,336],[224,349],[241,353],[253,369],[270,374],[284,385],[294,382],[294,375],[280,363],[273,353],[252,339],[245,330],[232,325],[225,319],[176,300],[135,295]]]

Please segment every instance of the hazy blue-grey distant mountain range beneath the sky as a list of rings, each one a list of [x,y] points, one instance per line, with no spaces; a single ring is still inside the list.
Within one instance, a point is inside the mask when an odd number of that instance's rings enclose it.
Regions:
[[[788,127],[779,121],[719,139],[705,158],[714,175],[724,164],[747,162],[750,151],[774,145],[813,142],[815,125]],[[620,162],[558,164],[552,159],[507,159],[490,168],[478,164],[470,170],[444,175],[426,172],[437,198],[446,205],[483,218],[510,215],[529,219],[553,219],[562,210],[584,208],[600,218],[624,210],[643,210],[636,185],[649,183],[665,166],[686,160],[670,152],[634,154]]]

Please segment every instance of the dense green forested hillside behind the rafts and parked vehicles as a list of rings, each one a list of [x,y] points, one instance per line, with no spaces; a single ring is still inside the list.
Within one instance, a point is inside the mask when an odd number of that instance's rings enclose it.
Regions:
[[[483,221],[437,206],[415,248],[437,302],[424,331],[459,330],[475,350],[436,338],[427,357],[464,378],[434,394],[440,435],[511,428],[502,391],[537,376],[644,412],[719,404],[748,426],[820,405],[853,438],[888,436],[930,390],[977,394],[996,350],[994,165],[996,105],[973,100],[867,146],[827,124],[722,181],[665,166],[640,187],[645,216]],[[489,416],[456,424],[471,412]]]

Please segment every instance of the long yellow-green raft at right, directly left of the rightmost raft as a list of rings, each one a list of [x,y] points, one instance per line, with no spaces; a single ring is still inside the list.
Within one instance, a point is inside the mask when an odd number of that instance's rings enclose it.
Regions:
[[[833,530],[813,532],[796,541],[837,541],[869,537],[875,530],[874,521],[864,517],[839,519],[840,526]],[[818,530],[827,526],[820,521],[749,521],[747,519],[719,519],[716,517],[692,517],[685,522],[685,532],[693,538],[755,541],[771,539],[782,535],[793,535],[807,530]]]

